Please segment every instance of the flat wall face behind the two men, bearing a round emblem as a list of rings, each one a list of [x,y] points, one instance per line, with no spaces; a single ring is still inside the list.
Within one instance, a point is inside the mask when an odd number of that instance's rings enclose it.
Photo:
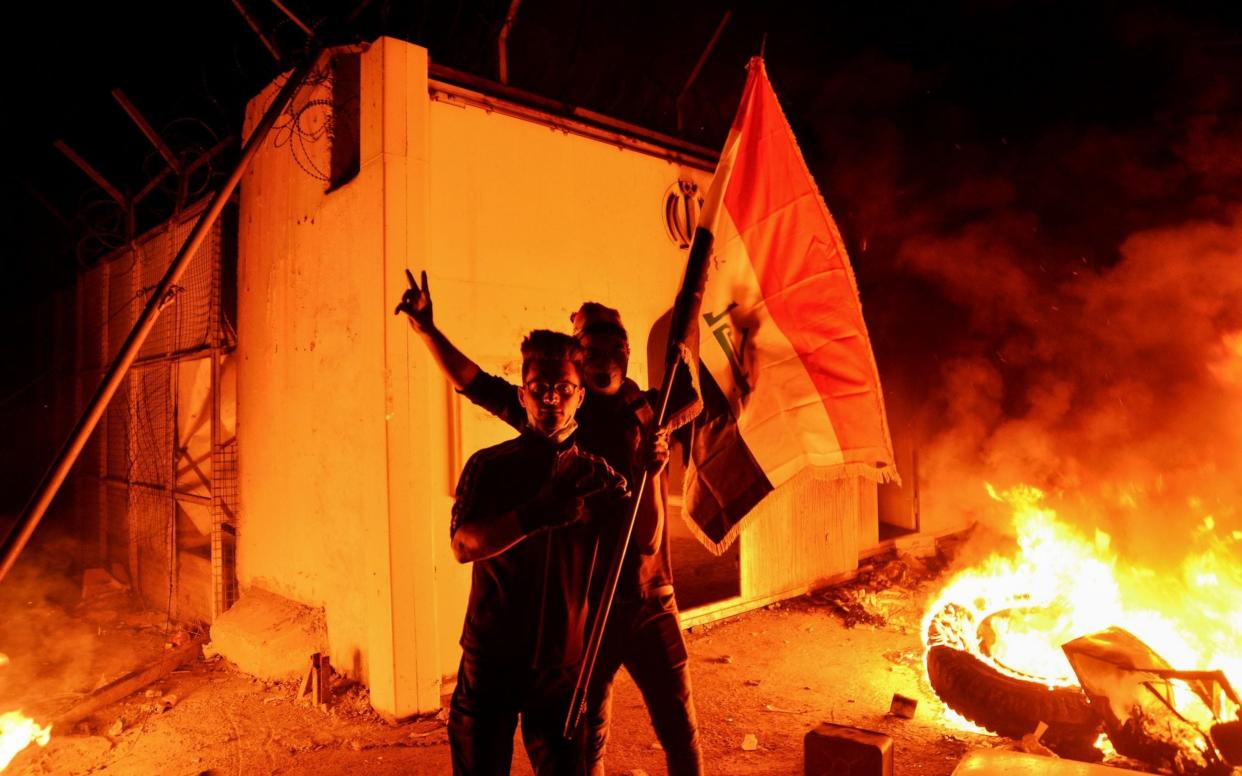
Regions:
[[[585,300],[621,310],[633,343],[630,372],[647,375],[647,333],[667,312],[687,253],[664,233],[663,196],[678,178],[710,174],[451,101],[431,106],[428,258],[436,317],[478,364],[517,381],[518,345],[533,328],[569,330]],[[438,493],[473,451],[513,431],[451,399],[460,433]],[[448,553],[448,508],[437,534],[441,646],[456,661],[468,567]]]

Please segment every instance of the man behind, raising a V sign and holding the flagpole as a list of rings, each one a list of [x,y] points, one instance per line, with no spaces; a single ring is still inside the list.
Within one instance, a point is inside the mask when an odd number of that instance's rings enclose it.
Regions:
[[[405,312],[445,376],[463,396],[522,430],[527,423],[518,386],[484,372],[462,354],[436,327],[426,273],[422,283],[407,271],[410,288],[397,312]],[[601,540],[600,557],[606,564],[625,551],[619,569],[620,585],[607,621],[597,639],[597,663],[586,673],[586,764],[584,772],[602,776],[611,709],[612,679],[621,665],[638,687],[651,715],[652,728],[664,751],[668,772],[697,776],[703,772],[698,723],[691,697],[686,641],[677,617],[672,562],[668,553],[667,488],[661,469],[668,458],[668,431],[698,412],[693,371],[682,372],[677,386],[677,411],[656,426],[652,407],[655,391],[643,391],[627,376],[630,340],[621,314],[606,305],[587,302],[571,317],[574,336],[585,350],[587,399],[578,411],[578,442],[582,449],[601,456],[623,477],[651,482],[636,498],[633,546],[630,531]],[[628,526],[626,526],[628,529]],[[604,579],[592,580],[592,600],[600,601]],[[609,591],[609,603],[612,603]],[[597,615],[592,615],[597,616]],[[602,647],[601,647],[602,644]],[[580,682],[585,682],[580,674]],[[575,706],[578,704],[574,704]],[[566,708],[566,711],[569,709]],[[578,718],[575,716],[576,733]]]

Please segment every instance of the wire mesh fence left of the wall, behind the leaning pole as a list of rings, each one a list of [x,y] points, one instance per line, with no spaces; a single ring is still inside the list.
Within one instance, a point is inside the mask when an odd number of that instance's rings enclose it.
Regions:
[[[197,207],[96,264],[77,288],[77,408],[190,235]],[[76,507],[96,526],[98,560],[148,605],[211,620],[236,600],[237,466],[232,391],[222,392],[232,329],[221,305],[217,220],[170,294],[76,467]],[[227,381],[231,385],[231,380]],[[232,426],[229,422],[229,426]],[[210,569],[210,579],[195,569]]]

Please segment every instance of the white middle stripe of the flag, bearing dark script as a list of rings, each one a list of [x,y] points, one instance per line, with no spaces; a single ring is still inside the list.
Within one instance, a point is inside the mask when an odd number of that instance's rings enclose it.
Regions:
[[[714,248],[699,317],[699,356],[729,399],[750,453],[774,487],[807,463],[843,463],[823,400],[794,345],[771,319],[745,242],[727,209],[717,214]],[[734,302],[737,307],[727,318],[708,325],[705,315],[720,315]],[[717,341],[715,332],[725,322],[734,353],[744,358],[743,370],[751,387],[746,396]],[[748,339],[743,353],[744,332]]]

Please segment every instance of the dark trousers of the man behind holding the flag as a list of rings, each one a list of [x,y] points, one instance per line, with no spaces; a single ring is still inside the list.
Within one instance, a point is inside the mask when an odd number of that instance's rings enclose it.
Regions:
[[[656,738],[664,749],[669,776],[703,772],[687,658],[673,593],[617,598],[600,643],[589,694],[586,757],[592,776],[604,774],[612,680],[622,665],[647,704]]]

